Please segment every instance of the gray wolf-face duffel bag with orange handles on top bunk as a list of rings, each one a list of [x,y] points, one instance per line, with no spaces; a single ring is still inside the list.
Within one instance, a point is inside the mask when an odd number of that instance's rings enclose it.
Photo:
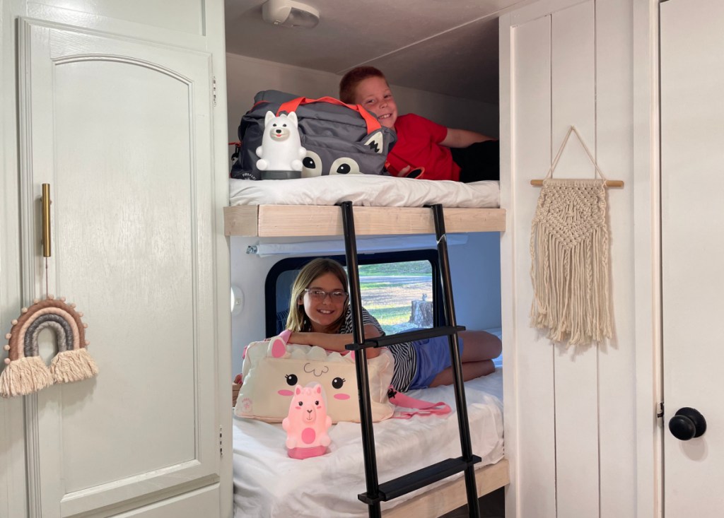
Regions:
[[[239,156],[232,164],[232,178],[277,179],[278,171],[259,171],[256,154],[264,135],[266,112],[276,115],[295,112],[301,145],[306,149],[302,171],[288,177],[319,177],[328,174],[388,174],[387,153],[397,135],[381,126],[376,116],[359,105],[342,103],[332,97],[309,99],[277,90],[254,96],[254,105],[242,117]]]

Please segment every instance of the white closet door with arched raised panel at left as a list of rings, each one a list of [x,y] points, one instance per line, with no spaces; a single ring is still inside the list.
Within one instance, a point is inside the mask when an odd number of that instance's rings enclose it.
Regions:
[[[49,292],[100,370],[28,398],[30,515],[218,517],[211,56],[20,20],[18,61],[24,291],[49,183]]]

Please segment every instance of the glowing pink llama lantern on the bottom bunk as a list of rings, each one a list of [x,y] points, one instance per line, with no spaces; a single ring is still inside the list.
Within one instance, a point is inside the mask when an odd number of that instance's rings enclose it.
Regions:
[[[324,391],[319,383],[294,388],[289,414],[282,421],[287,432],[287,450],[292,459],[308,459],[327,453],[332,439],[327,430],[332,417],[327,415]]]

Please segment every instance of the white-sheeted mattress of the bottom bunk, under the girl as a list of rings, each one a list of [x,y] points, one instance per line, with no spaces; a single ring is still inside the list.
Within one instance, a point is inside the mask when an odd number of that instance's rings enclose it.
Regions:
[[[476,467],[494,464],[503,457],[502,370],[467,381],[465,386],[473,454],[482,459]],[[408,395],[429,402],[444,401],[450,404],[452,412],[375,423],[380,483],[460,457],[452,386],[410,391]],[[233,428],[235,518],[368,516],[368,507],[357,498],[366,491],[361,430],[357,423],[332,425],[329,453],[304,460],[287,457],[286,433],[279,424],[235,418]],[[461,476],[462,473],[454,475],[437,485]],[[382,502],[382,509],[390,509],[434,487]]]

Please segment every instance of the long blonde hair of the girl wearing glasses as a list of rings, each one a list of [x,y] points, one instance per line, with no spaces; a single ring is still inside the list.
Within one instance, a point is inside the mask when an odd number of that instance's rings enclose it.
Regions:
[[[287,329],[298,333],[301,331],[311,331],[311,321],[304,311],[304,290],[311,286],[314,279],[323,276],[325,273],[332,273],[337,279],[340,279],[342,286],[347,291],[347,273],[336,260],[326,258],[316,258],[307,263],[297,274],[294,284],[292,284],[292,296],[289,300],[289,316],[287,316]],[[332,329],[339,329],[342,320],[347,313],[347,305],[349,299],[345,301],[345,307],[342,309],[342,315],[334,323]]]

